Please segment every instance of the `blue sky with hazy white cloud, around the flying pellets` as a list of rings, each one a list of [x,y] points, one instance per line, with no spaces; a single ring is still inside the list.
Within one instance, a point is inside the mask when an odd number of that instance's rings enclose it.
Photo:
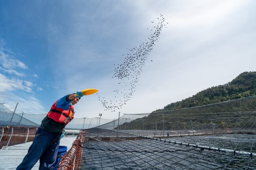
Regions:
[[[47,113],[58,98],[96,88],[75,105],[76,118],[150,113],[256,71],[255,9],[254,0],[0,0],[0,103]],[[115,100],[123,90],[115,66],[160,15],[167,27],[131,99],[106,110],[98,97]]]

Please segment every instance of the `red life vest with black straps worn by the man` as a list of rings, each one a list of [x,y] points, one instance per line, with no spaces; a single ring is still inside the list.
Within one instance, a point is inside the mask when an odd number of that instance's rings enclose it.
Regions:
[[[74,107],[72,104],[70,104],[69,110],[63,110],[56,107],[57,102],[58,101],[52,105],[47,116],[56,122],[68,124],[74,118]]]

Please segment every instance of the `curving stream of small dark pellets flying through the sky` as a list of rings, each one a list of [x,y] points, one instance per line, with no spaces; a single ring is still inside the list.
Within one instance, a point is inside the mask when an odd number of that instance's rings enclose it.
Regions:
[[[118,80],[117,83],[122,90],[114,90],[112,100],[107,100],[105,97],[100,96],[100,93],[97,93],[98,100],[104,106],[105,111],[115,112],[116,110],[120,110],[122,106],[132,99],[132,94],[135,92],[136,84],[141,77],[141,72],[150,55],[150,51],[152,51],[156,42],[158,42],[162,28],[166,28],[163,15],[160,14],[160,17],[157,19],[157,24],[152,21],[153,26],[152,29],[150,29],[148,38],[139,46],[132,49],[127,48],[128,53],[122,55],[124,58],[123,62],[114,64],[115,71],[112,79]],[[153,60],[151,60],[151,62],[153,62]]]

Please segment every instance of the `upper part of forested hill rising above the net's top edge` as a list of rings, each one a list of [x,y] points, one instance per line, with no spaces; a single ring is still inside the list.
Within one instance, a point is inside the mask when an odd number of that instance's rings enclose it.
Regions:
[[[168,104],[154,112],[191,108],[254,95],[256,95],[256,71],[243,72],[227,84],[200,91],[192,97]]]

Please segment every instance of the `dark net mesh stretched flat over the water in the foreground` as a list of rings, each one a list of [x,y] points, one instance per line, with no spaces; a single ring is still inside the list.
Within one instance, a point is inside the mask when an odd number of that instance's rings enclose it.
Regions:
[[[256,163],[253,156],[234,154],[233,152],[200,148],[199,144],[226,148],[237,148],[255,152],[252,135],[241,134],[214,136],[174,137],[171,141],[146,136],[138,136],[124,132],[103,129],[85,130],[86,140],[83,143],[83,155],[80,158],[80,169],[99,170],[165,170],[165,169],[254,169]],[[237,141],[236,139],[240,139]],[[208,139],[208,143],[205,143]],[[210,140],[209,140],[210,139]],[[178,142],[180,141],[180,143]],[[184,141],[194,145],[182,144]],[[228,142],[227,142],[228,141]],[[231,144],[230,144],[231,143]],[[250,144],[248,144],[250,143]],[[245,146],[244,144],[247,144]],[[79,158],[76,158],[79,159]]]

